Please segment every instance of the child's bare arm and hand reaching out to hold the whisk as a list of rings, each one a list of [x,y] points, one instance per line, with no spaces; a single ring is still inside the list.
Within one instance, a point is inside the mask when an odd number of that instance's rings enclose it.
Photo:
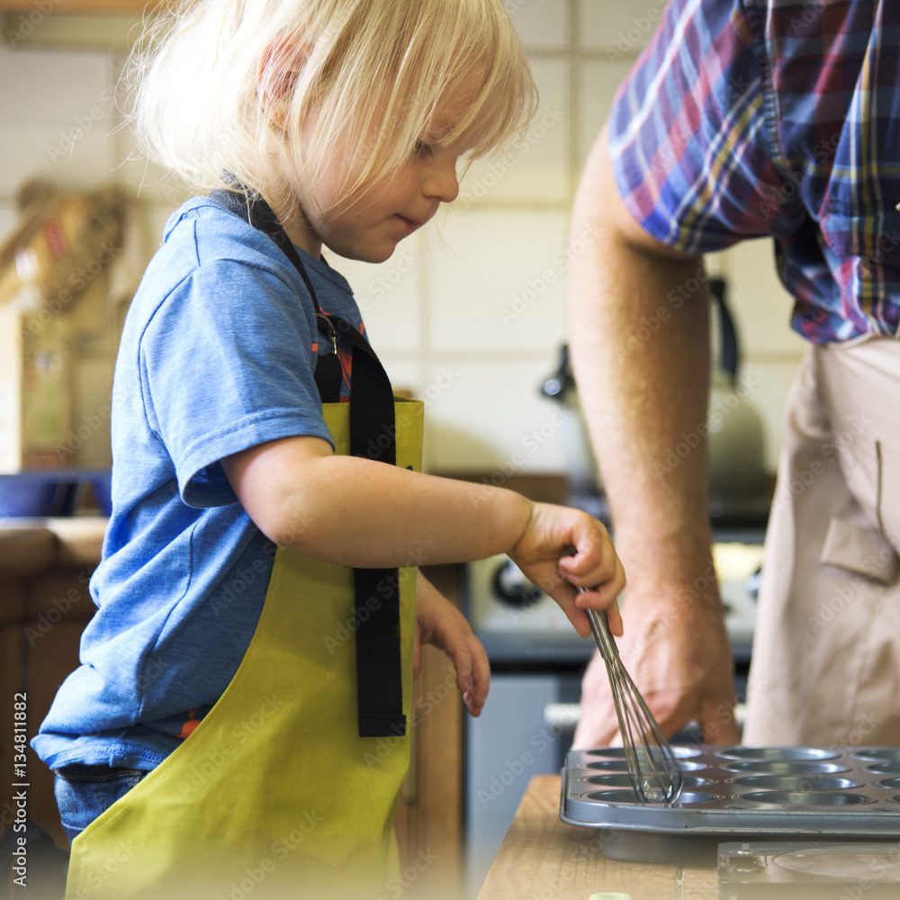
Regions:
[[[622,633],[616,598],[625,572],[606,528],[579,509],[334,455],[319,437],[270,441],[222,464],[257,527],[296,553],[362,568],[505,553],[580,635],[590,635],[585,608],[606,609],[613,634]]]

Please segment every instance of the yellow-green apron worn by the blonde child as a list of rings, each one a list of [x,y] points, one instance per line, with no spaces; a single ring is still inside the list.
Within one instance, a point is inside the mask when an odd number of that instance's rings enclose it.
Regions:
[[[349,451],[348,403],[324,405]],[[422,404],[395,401],[397,464],[419,470]],[[410,720],[415,569],[401,569]],[[372,601],[377,603],[377,596]],[[410,738],[357,734],[352,569],[279,548],[247,654],[211,712],[72,843],[66,900],[396,896]]]

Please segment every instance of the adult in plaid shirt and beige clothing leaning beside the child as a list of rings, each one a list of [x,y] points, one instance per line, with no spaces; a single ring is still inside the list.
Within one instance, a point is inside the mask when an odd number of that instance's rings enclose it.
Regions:
[[[887,0],[672,0],[590,154],[572,233],[600,237],[572,261],[570,343],[628,572],[619,645],[668,734],[693,719],[709,743],[738,740],[699,439],[702,255],[768,237],[808,347],[743,741],[900,741],[898,85]],[[664,464],[686,435],[697,448]],[[574,745],[615,741],[596,658],[582,689]]]

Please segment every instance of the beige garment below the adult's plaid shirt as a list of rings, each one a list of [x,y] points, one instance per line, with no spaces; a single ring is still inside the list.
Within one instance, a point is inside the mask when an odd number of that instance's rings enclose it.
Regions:
[[[900,344],[809,347],[788,397],[744,743],[900,744]]]

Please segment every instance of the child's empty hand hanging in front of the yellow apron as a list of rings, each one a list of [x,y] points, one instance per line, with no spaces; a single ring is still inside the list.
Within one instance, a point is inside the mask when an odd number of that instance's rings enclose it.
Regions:
[[[463,694],[469,714],[480,716],[491,683],[488,654],[464,615],[419,572],[413,678],[419,677],[424,644],[432,644],[446,653],[454,664],[456,687]]]

